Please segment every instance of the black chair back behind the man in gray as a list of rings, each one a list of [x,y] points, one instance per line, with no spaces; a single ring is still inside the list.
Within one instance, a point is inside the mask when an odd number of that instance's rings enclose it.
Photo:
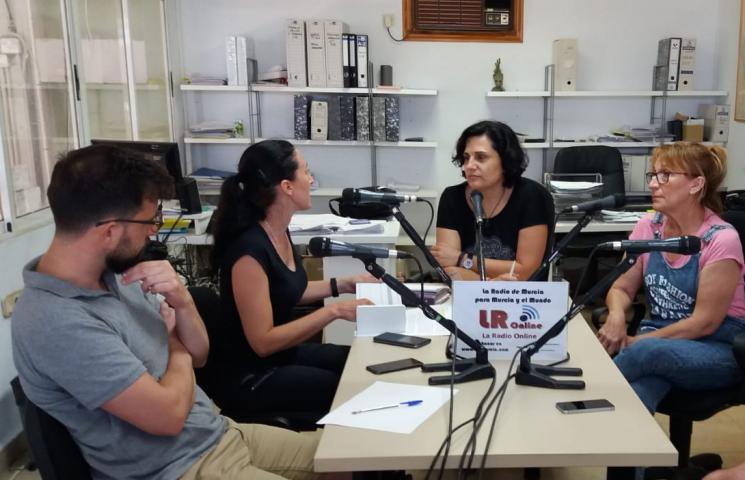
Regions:
[[[64,425],[26,397],[18,377],[10,382],[23,429],[31,447],[31,464],[44,480],[89,480],[90,467]]]

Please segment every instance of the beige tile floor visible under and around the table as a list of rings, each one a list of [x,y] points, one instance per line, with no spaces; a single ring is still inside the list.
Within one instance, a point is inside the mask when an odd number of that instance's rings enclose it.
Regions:
[[[658,422],[667,429],[667,417],[658,416]],[[706,422],[694,425],[693,453],[717,452],[724,459],[725,466],[732,466],[745,461],[745,406],[725,410]],[[21,465],[18,462],[18,465]],[[15,476],[14,476],[15,475]],[[520,480],[522,470],[493,471],[487,476],[489,479]],[[38,480],[38,472],[1,472],[0,480]],[[414,475],[415,480],[424,475]],[[455,475],[446,475],[452,480]],[[565,468],[541,470],[541,480],[602,480],[605,478],[604,468]]]

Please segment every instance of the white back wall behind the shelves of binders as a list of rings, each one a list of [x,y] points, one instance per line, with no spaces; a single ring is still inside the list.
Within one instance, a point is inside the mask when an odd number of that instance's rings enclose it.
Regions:
[[[402,97],[401,135],[424,136],[437,141],[435,150],[378,149],[378,180],[416,183],[440,190],[459,180],[449,162],[455,141],[464,127],[483,118],[503,120],[532,136],[541,135],[541,100],[491,99],[494,61],[502,59],[507,90],[540,90],[544,66],[551,63],[551,42],[556,38],[578,39],[580,90],[650,90],[657,41],[668,36],[697,39],[699,90],[734,88],[738,29],[734,0],[529,0],[525,2],[522,43],[396,43],[382,25],[384,13],[395,14],[393,32],[400,36],[400,0],[327,0],[306,2],[245,2],[215,0],[205,8],[199,0],[181,2],[183,71],[225,72],[223,41],[230,34],[249,35],[256,47],[259,69],[285,63],[285,19],[339,18],[352,33],[370,36],[370,59],[393,65],[394,83],[411,88],[435,88],[437,97]],[[727,58],[725,58],[725,56]],[[697,113],[696,100],[671,100],[668,114]],[[711,99],[703,100],[711,102]],[[185,96],[189,120],[246,120],[245,98],[240,94],[190,93]],[[263,95],[263,136],[292,136],[292,97]],[[612,127],[649,122],[650,100],[559,99],[556,133],[561,137],[607,134]],[[187,123],[188,121],[187,120]],[[737,128],[731,137],[736,137]],[[741,172],[745,145],[731,157]],[[195,166],[235,169],[244,147],[192,147]],[[321,186],[361,186],[370,183],[369,156],[364,148],[304,147],[306,158]],[[531,150],[528,175],[542,170],[542,152]],[[730,185],[742,186],[730,176]],[[318,203],[322,203],[318,201]],[[325,205],[321,205],[325,209]]]

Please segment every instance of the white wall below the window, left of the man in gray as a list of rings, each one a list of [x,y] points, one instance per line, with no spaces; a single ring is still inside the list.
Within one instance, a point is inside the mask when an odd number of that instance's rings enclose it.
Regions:
[[[0,242],[0,265],[3,271],[0,275],[0,298],[23,288],[21,269],[46,250],[53,232],[54,227],[48,225]],[[10,380],[17,375],[10,343],[11,321],[0,318],[0,449],[21,431],[21,419],[10,389]]]

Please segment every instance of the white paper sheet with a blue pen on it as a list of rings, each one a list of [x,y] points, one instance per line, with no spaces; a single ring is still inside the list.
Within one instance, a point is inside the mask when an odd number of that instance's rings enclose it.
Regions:
[[[458,393],[455,389],[454,393]],[[350,398],[319,424],[343,425],[393,433],[411,433],[450,399],[450,387],[428,387],[403,383],[375,382]],[[353,411],[411,400],[422,403],[413,407],[388,408],[353,414]]]

